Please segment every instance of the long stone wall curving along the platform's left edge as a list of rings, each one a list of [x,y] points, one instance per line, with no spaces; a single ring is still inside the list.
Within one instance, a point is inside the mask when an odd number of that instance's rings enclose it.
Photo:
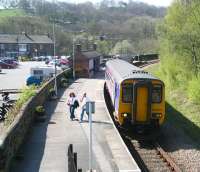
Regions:
[[[61,78],[69,70],[57,75],[57,86],[61,85]],[[0,172],[9,171],[12,158],[16,155],[23,143],[26,134],[34,120],[34,110],[38,105],[43,105],[48,99],[49,89],[54,87],[54,78],[48,81],[26,104],[15,117],[13,123],[6,131],[0,134]]]

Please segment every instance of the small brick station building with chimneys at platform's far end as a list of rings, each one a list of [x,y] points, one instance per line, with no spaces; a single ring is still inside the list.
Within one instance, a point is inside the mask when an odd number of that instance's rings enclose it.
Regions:
[[[74,67],[76,78],[91,78],[100,70],[101,54],[96,51],[96,44],[92,50],[83,51],[81,45],[76,45]]]

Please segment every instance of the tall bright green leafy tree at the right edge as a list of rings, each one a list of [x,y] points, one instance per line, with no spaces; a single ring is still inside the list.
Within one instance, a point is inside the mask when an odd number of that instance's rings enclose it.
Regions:
[[[176,0],[159,26],[162,71],[172,86],[200,77],[200,3]],[[190,89],[193,87],[188,87]],[[196,88],[199,89],[199,88]],[[188,91],[191,92],[191,91]]]

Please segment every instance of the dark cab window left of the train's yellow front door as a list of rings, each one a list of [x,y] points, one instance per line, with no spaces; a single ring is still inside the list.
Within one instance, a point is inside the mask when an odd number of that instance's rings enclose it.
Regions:
[[[132,84],[122,85],[122,101],[124,103],[131,103],[133,101],[133,85]]]

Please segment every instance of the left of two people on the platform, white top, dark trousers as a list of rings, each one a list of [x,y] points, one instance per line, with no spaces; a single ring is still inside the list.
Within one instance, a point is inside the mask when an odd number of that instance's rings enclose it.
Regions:
[[[74,115],[74,111],[75,109],[77,108],[77,98],[76,98],[76,95],[74,92],[71,92],[69,94],[69,98],[68,98],[68,101],[67,101],[67,105],[69,106],[69,111],[70,111],[70,119],[73,121],[74,118],[75,118],[75,115]]]

